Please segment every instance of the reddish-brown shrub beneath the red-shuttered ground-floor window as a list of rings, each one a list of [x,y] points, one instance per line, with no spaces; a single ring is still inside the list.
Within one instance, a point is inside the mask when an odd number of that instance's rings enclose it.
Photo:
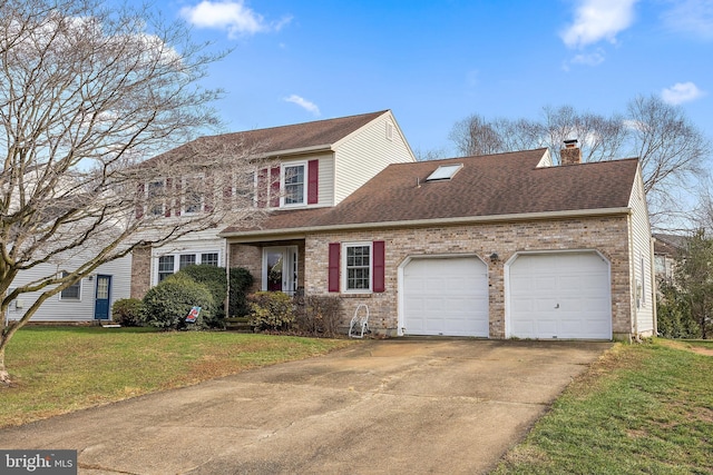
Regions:
[[[295,297],[295,327],[302,335],[333,337],[338,334],[342,300],[334,296]]]

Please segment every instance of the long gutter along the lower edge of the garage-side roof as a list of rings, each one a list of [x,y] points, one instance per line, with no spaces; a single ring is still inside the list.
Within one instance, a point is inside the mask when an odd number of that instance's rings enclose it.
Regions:
[[[465,224],[485,224],[485,222],[506,222],[506,221],[526,221],[541,219],[565,219],[565,218],[590,218],[597,216],[614,215],[632,215],[633,210],[626,208],[598,208],[585,209],[577,211],[543,211],[543,212],[518,212],[511,215],[495,216],[466,216],[456,218],[431,218],[431,219],[413,219],[383,222],[354,222],[326,226],[305,226],[297,228],[277,228],[277,229],[257,229],[252,231],[229,231],[218,232],[222,238],[250,238],[257,236],[283,236],[283,235],[302,235],[310,232],[325,232],[336,230],[353,229],[383,229],[383,228],[408,228],[408,227],[426,227],[426,226],[443,226],[443,225],[465,225]]]

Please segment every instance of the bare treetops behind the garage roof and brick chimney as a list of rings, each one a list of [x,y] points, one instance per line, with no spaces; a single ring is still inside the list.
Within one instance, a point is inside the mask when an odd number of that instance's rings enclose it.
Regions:
[[[547,147],[559,162],[564,140],[577,139],[584,161],[638,157],[654,220],[680,215],[687,184],[704,175],[709,140],[681,108],[656,96],[635,98],[626,115],[605,117],[570,106],[543,112],[540,120],[471,116],[456,122],[449,138],[469,156]]]

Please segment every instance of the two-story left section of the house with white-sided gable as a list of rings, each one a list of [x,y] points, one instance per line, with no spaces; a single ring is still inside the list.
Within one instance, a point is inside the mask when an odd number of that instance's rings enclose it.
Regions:
[[[224,145],[226,150],[235,149],[238,152],[233,160],[236,168],[244,169],[244,161],[252,161],[254,172],[250,178],[250,192],[254,191],[254,196],[251,196],[251,206],[261,214],[332,209],[388,165],[416,161],[390,110],[207,137],[183,145],[167,155],[189,156],[193,150],[202,148],[202,141]],[[257,145],[258,154],[240,155],[245,146],[252,145]],[[226,160],[229,161],[231,158]],[[214,175],[232,172],[229,169],[212,171]],[[207,174],[191,178],[205,185],[203,199],[158,207],[156,212],[165,214],[166,219],[195,217],[206,211],[215,200],[242,194],[237,187],[232,191],[211,190]],[[184,189],[188,186],[186,177],[167,177],[146,184],[145,190],[148,195],[152,187],[168,189],[179,185]],[[192,232],[169,245],[135,251],[131,296],[141,298],[152,286],[185,266],[225,266],[231,263],[226,241],[218,236],[219,230]],[[242,254],[241,261],[232,261],[231,265],[246,267],[253,274],[255,290],[263,288],[292,294],[304,285],[304,239],[295,240],[289,234],[282,234],[246,249],[250,251]],[[297,266],[301,266],[299,274]],[[287,274],[293,278],[287,278]]]

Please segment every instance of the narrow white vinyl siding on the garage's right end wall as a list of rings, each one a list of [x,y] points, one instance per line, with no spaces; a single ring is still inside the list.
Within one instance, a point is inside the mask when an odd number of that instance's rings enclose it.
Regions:
[[[631,288],[632,288],[632,331],[645,336],[654,331],[654,284],[651,250],[651,225],[648,209],[644,198],[641,169],[629,198],[631,215]],[[639,294],[641,295],[637,295]]]

